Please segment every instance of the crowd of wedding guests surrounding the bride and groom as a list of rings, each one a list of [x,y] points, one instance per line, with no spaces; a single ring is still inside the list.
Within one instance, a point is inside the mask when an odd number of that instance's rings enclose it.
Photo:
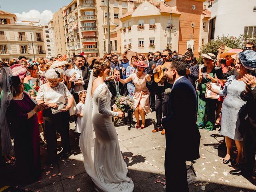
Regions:
[[[232,162],[237,168],[230,174],[252,174],[256,150],[256,46],[248,42],[244,50],[226,51],[222,45],[217,56],[201,56],[202,62],[198,63],[191,48],[183,55],[170,49],[148,52],[146,56],[131,50],[121,55],[105,54],[103,58],[110,61],[112,71],[105,80],[112,94],[111,108],[118,111],[118,96],[130,96],[135,102],[132,115],[136,128],[145,128],[146,115],[155,111],[152,132],[164,135],[161,121],[167,115],[172,84],[165,78],[157,83],[154,76],[165,70],[166,62],[180,58],[186,62],[185,76],[198,94],[198,128],[214,130],[220,126],[227,150],[223,163]],[[58,54],[50,60],[20,56],[9,63],[1,62],[2,156],[6,163],[16,161],[24,182],[40,179],[39,143],[43,141],[39,130],[47,144],[49,164],[58,159],[56,134],[61,138],[61,155],[70,156],[70,122],[75,121],[75,132],[81,133],[86,90],[97,60],[98,57],[82,53],[70,60]],[[236,160],[232,159],[234,143],[238,150]]]

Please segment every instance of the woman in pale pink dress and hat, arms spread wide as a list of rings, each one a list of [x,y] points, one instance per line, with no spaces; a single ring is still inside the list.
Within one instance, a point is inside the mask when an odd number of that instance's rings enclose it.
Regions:
[[[130,51],[131,52],[131,51]],[[128,53],[130,53],[128,52]],[[135,53],[135,52],[134,52]],[[136,54],[136,53],[135,53]],[[136,54],[137,56],[137,54]],[[149,105],[149,95],[150,92],[148,88],[146,87],[146,82],[151,81],[151,75],[146,74],[144,72],[144,69],[148,67],[147,64],[145,64],[143,61],[137,61],[134,62],[134,64],[137,66],[136,72],[131,74],[126,79],[122,80],[120,79],[121,83],[128,83],[131,80],[134,83],[135,91],[134,91],[134,115],[137,120],[136,128],[143,129],[145,127],[145,114],[150,114],[150,105]],[[141,126],[140,126],[140,116],[141,116]]]

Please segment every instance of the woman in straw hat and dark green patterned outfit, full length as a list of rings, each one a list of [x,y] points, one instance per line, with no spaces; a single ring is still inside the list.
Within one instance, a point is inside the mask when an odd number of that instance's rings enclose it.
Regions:
[[[208,82],[216,83],[214,70],[214,54],[202,54],[204,57],[205,67],[199,70],[198,76],[198,112],[197,112],[197,126],[198,129],[205,128],[206,130],[213,130],[215,123],[215,110],[217,100],[205,98],[206,84]],[[206,118],[205,118],[206,116]]]

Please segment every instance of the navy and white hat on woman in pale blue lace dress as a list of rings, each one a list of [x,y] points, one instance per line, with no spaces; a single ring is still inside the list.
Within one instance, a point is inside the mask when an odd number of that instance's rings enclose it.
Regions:
[[[240,52],[239,59],[246,69],[256,69],[256,52],[254,50],[245,50]]]

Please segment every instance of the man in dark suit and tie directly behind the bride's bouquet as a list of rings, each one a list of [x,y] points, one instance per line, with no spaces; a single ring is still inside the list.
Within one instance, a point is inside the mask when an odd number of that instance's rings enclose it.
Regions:
[[[114,70],[114,79],[107,81],[107,86],[108,89],[110,90],[112,97],[111,97],[111,107],[117,111],[116,108],[116,104],[115,104],[115,99],[119,96],[119,95],[123,95],[123,96],[127,96],[128,95],[128,91],[127,91],[127,86],[126,84],[122,84],[119,81],[116,81],[116,79],[120,78],[120,71],[115,69]]]

